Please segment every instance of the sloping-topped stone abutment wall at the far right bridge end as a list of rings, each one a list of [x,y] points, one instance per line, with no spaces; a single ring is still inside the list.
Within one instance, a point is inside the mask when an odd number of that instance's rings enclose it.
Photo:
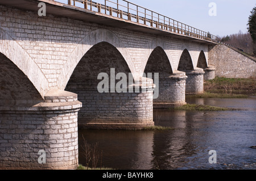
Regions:
[[[256,75],[256,62],[226,45],[209,45],[208,56],[209,64],[216,68],[217,77],[249,78]]]

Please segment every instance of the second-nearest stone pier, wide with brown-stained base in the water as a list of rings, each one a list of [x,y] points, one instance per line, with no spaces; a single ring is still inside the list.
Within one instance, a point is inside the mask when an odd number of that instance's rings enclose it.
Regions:
[[[92,85],[71,85],[66,90],[75,92],[83,104],[79,129],[142,129],[154,125],[154,86],[152,79],[143,78],[121,93],[100,93]]]

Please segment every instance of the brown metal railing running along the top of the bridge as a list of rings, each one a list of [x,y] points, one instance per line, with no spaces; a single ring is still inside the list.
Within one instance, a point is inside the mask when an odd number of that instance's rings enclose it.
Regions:
[[[155,11],[148,10],[142,6],[135,5],[134,3],[125,0],[95,0],[97,2],[92,0],[52,1],[129,20],[131,22],[143,24],[144,26],[158,28],[160,30],[177,33],[179,35],[217,42],[217,36],[211,35],[209,32],[201,31],[197,28],[188,26],[187,24],[178,22]]]

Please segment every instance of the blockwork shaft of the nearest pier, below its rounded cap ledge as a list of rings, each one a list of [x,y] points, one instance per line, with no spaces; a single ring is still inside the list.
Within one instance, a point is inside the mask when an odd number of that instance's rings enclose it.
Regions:
[[[0,113],[0,169],[76,169],[77,112],[44,113]]]

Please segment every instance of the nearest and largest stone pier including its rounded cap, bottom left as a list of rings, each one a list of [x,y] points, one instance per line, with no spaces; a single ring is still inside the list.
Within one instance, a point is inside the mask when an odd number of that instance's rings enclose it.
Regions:
[[[35,106],[0,107],[0,169],[76,169],[80,107],[65,91]]]

